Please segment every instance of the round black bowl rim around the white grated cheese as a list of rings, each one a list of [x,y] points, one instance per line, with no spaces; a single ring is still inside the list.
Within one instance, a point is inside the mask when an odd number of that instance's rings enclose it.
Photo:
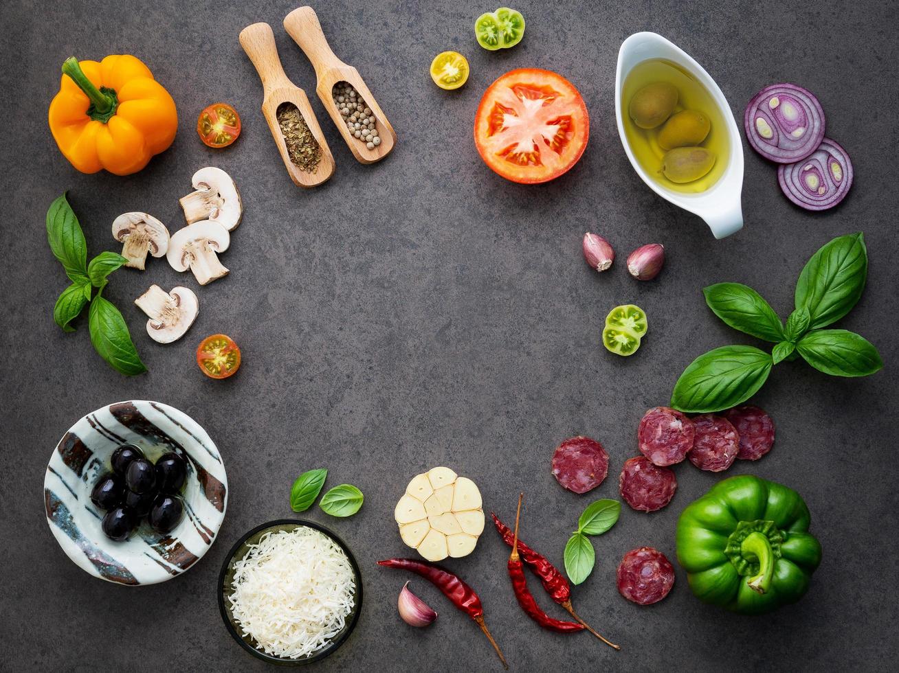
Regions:
[[[355,603],[352,607],[352,612],[347,615],[346,624],[344,624],[343,629],[339,633],[334,635],[334,639],[330,642],[330,644],[327,645],[327,647],[325,647],[323,650],[314,652],[307,657],[301,657],[299,659],[286,659],[284,657],[276,657],[274,655],[267,654],[266,652],[256,647],[255,641],[251,636],[241,635],[238,626],[234,622],[234,615],[231,614],[231,607],[228,605],[227,596],[231,593],[231,581],[234,580],[234,562],[244,558],[245,553],[249,549],[249,545],[255,545],[256,543],[258,543],[259,538],[261,538],[265,533],[269,531],[292,530],[296,527],[301,526],[315,528],[316,530],[321,531],[326,536],[334,540],[334,542],[337,543],[337,545],[341,549],[343,549],[343,553],[345,553],[346,557],[350,560],[352,572],[356,580]],[[353,556],[352,552],[350,551],[350,547],[348,547],[340,537],[334,535],[333,531],[325,528],[321,524],[316,524],[315,521],[305,521],[295,518],[279,518],[274,521],[269,521],[262,526],[255,527],[249,533],[246,533],[245,536],[241,537],[236,542],[236,544],[231,547],[231,550],[225,557],[225,562],[222,564],[222,570],[218,574],[218,609],[221,611],[222,620],[224,620],[225,622],[228,633],[232,635],[232,637],[240,644],[241,647],[243,647],[257,659],[268,661],[271,664],[281,664],[283,666],[300,666],[303,664],[311,664],[314,661],[323,660],[328,655],[333,654],[334,651],[336,651],[337,648],[343,645],[343,642],[350,637],[350,633],[352,633],[352,630],[356,627],[356,622],[359,621],[359,613],[362,609],[362,573],[359,570],[359,564],[356,562],[356,557]]]

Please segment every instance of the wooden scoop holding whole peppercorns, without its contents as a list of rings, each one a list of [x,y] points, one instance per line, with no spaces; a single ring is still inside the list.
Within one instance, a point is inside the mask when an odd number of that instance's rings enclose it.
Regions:
[[[312,7],[300,7],[284,17],[284,29],[291,38],[297,42],[299,48],[304,51],[307,58],[316,68],[318,85],[316,92],[321,99],[325,110],[331,115],[334,124],[340,130],[343,140],[350,147],[352,155],[362,164],[374,164],[390,154],[396,144],[396,133],[384,111],[378,106],[375,97],[371,95],[369,87],[362,81],[359,71],[353,66],[347,66],[340,58],[334,56],[334,52],[325,40],[322,25],[318,22],[316,12]],[[365,140],[354,137],[346,126],[337,104],[334,102],[332,92],[334,84],[348,82],[365,100],[375,117],[381,144],[374,149],[366,146]]]

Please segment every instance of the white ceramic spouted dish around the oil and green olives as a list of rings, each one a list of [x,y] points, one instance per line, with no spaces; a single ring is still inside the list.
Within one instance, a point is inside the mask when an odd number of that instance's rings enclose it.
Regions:
[[[636,157],[628,145],[624,121],[621,118],[622,87],[634,66],[650,58],[664,58],[687,70],[700,84],[706,87],[727,122],[727,133],[731,146],[730,160],[718,181],[708,190],[699,194],[685,194],[666,189],[646,174],[637,163]],[[731,112],[725,99],[725,94],[721,93],[715,80],[699,63],[690,58],[687,52],[654,32],[636,32],[624,40],[619,49],[618,69],[615,74],[615,118],[618,120],[621,144],[628,154],[630,164],[634,167],[636,174],[656,194],[671,201],[675,206],[702,217],[716,238],[729,236],[743,227],[743,210],[740,206],[740,195],[743,191],[743,140],[734,120],[734,113]]]

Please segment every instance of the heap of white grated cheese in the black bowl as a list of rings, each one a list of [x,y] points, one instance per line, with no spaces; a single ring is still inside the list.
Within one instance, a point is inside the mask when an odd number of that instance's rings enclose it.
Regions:
[[[310,527],[266,533],[235,563],[228,597],[236,624],[267,654],[306,657],[343,630],[355,602],[349,559]]]

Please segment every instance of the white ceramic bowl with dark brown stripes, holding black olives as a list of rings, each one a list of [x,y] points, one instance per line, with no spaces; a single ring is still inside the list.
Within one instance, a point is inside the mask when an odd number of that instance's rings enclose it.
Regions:
[[[103,535],[91,491],[111,471],[112,452],[126,443],[151,461],[174,451],[187,462],[184,518],[166,536],[146,521],[125,542]],[[206,431],[185,413],[158,402],[110,404],[59,440],[44,477],[44,503],[59,546],[82,569],[119,584],[155,584],[186,571],[216,539],[227,508],[225,466]]]

